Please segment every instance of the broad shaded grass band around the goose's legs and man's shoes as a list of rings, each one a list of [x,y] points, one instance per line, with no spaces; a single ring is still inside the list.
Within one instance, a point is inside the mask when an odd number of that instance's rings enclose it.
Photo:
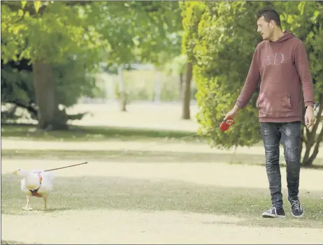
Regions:
[[[20,181],[12,175],[2,175],[1,186],[2,214],[26,215],[26,211],[21,209],[26,198],[20,191]],[[262,226],[317,228],[323,225],[320,194],[300,193],[302,205],[306,207],[306,216],[301,223],[292,222],[294,218],[291,217],[271,223],[259,218],[262,211],[271,206],[267,189],[224,188],[163,179],[57,177],[48,208],[52,212],[66,209],[189,211],[237,216],[245,219],[241,225],[257,223]],[[41,198],[32,198],[31,207],[41,210],[42,201]]]

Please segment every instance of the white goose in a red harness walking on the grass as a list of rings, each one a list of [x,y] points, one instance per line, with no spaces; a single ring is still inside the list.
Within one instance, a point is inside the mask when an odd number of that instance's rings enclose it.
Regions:
[[[23,177],[20,188],[22,193],[26,195],[27,204],[22,207],[24,210],[32,210],[29,206],[30,198],[34,195],[37,198],[44,199],[45,209],[47,209],[48,195],[53,189],[54,175],[44,172],[43,170],[15,170],[14,175]]]

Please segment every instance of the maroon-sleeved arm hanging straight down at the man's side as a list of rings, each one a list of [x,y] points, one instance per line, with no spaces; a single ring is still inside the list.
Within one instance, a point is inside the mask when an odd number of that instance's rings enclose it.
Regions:
[[[314,107],[314,86],[312,77],[310,76],[308,56],[306,54],[305,46],[301,42],[297,45],[295,50],[295,67],[297,73],[299,73],[299,78],[301,79],[305,106]]]

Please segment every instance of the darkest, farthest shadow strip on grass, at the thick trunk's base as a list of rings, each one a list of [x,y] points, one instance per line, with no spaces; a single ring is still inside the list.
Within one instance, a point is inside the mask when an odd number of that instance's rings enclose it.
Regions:
[[[178,140],[194,131],[166,131],[148,128],[126,128],[108,126],[70,126],[69,130],[62,131],[38,131],[33,124],[5,124],[1,125],[1,137],[19,138],[20,140],[59,140],[59,141],[100,141],[134,140],[151,138],[171,138]],[[199,141],[203,137],[194,135],[184,140]]]

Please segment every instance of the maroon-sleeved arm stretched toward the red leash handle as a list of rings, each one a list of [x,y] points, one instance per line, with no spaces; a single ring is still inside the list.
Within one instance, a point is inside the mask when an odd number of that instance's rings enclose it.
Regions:
[[[257,84],[260,78],[259,72],[259,52],[258,49],[254,50],[254,55],[252,57],[251,65],[249,68],[249,72],[247,74],[247,78],[245,80],[245,84],[243,85],[243,89],[241,90],[241,94],[236,101],[235,107],[243,108],[250,101],[252,94],[257,89]]]

